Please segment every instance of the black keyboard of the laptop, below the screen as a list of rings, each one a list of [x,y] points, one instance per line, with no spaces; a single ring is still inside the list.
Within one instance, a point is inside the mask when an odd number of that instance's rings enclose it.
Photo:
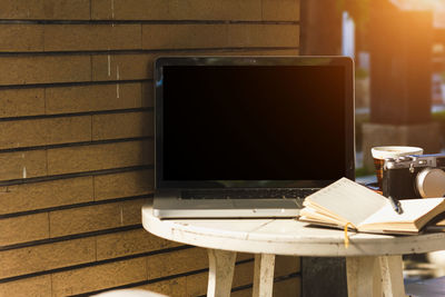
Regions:
[[[200,189],[182,190],[182,199],[256,199],[256,198],[283,198],[304,199],[318,189]]]

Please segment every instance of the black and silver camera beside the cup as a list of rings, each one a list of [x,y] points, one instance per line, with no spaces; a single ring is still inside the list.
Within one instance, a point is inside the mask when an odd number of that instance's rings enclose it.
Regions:
[[[445,196],[445,154],[385,159],[382,191],[397,199]]]

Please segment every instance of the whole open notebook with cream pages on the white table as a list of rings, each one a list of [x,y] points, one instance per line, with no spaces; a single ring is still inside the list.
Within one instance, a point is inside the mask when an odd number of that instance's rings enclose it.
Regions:
[[[301,221],[348,228],[364,232],[418,234],[445,212],[445,198],[400,200],[397,214],[389,199],[347,178],[308,196],[300,210]]]

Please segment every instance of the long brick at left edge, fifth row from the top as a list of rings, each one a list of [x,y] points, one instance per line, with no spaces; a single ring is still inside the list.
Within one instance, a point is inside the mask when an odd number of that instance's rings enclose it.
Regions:
[[[91,117],[0,122],[0,149],[91,140]]]

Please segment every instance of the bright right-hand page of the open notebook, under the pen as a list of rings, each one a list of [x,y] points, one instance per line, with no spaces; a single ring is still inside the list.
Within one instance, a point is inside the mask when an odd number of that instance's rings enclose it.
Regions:
[[[398,215],[396,211],[394,211],[393,206],[388,202],[385,207],[364,220],[360,226],[358,226],[358,229],[372,228],[370,225],[377,224],[379,226],[387,225],[388,229],[392,228],[390,225],[395,225],[394,227],[396,227],[396,225],[400,226],[400,224],[415,225],[415,222],[421,220],[422,217],[431,214],[433,209],[443,204],[444,198],[406,199],[399,201],[403,214]],[[431,214],[426,218],[426,221],[434,217],[436,212],[439,214],[442,211],[443,208],[437,208],[437,211]],[[419,228],[421,227],[422,226],[419,226]]]

